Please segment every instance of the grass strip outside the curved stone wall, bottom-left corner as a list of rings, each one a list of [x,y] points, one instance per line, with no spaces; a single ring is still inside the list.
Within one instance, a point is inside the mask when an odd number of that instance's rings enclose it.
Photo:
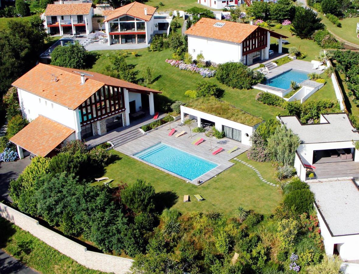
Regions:
[[[4,218],[0,227],[0,248],[40,273],[103,273],[85,268]]]

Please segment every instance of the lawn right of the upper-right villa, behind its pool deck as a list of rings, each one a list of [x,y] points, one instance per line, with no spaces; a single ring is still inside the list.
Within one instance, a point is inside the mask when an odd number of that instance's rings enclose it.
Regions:
[[[289,41],[289,44],[283,45],[283,53],[288,53],[288,48],[296,47],[301,52],[304,52],[307,56],[302,59],[304,61],[315,60],[315,57],[319,55],[322,48],[314,41],[309,39],[301,39],[292,34],[289,31],[289,26],[283,26],[281,29],[272,28],[272,31],[288,36],[285,40]],[[271,37],[271,44],[276,43],[278,46],[277,38]]]

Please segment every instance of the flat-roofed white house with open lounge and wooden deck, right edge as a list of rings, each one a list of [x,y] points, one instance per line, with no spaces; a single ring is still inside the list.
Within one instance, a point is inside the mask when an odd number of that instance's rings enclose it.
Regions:
[[[297,116],[281,116],[279,120],[301,141],[294,163],[301,180],[359,176],[359,151],[354,144],[359,132],[348,114],[322,114],[320,124],[302,124]],[[308,169],[314,177],[308,177]]]

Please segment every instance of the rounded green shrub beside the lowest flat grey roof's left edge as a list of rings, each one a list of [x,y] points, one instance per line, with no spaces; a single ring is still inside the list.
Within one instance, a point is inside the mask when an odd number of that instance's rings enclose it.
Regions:
[[[313,209],[314,194],[309,189],[290,191],[284,197],[284,205],[287,208],[294,208],[298,215],[309,213]]]

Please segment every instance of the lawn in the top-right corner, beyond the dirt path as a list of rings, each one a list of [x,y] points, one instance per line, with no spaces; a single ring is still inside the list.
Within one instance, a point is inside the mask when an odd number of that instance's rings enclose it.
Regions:
[[[356,23],[359,22],[358,17],[354,18],[345,18],[340,20],[341,27],[337,27],[324,14],[318,12],[318,16],[322,18],[322,23],[324,23],[328,30],[339,36],[340,38],[354,43],[359,46],[359,38],[356,37],[358,33],[356,31]]]

